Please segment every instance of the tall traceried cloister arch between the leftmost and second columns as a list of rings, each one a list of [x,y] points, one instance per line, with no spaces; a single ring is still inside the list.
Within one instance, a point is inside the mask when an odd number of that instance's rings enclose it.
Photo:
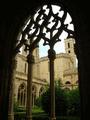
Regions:
[[[25,83],[22,83],[18,88],[18,97],[17,101],[19,103],[19,106],[25,106],[26,105],[26,85]]]

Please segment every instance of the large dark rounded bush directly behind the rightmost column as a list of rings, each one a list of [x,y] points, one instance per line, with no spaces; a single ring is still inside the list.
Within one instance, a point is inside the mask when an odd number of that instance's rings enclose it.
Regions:
[[[61,89],[60,81],[55,83],[55,112],[56,115],[66,115],[66,96],[64,90]],[[43,93],[41,97],[41,103],[43,110],[50,114],[50,88],[47,89],[45,93]]]

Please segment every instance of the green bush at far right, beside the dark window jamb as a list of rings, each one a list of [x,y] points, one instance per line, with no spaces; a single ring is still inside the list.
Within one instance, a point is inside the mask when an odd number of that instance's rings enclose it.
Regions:
[[[80,94],[79,89],[73,89],[66,93],[67,95],[67,114],[71,116],[80,116]]]

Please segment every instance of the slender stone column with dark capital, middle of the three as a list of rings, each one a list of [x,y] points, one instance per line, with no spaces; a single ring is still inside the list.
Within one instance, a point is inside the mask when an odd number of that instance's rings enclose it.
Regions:
[[[27,56],[28,62],[28,80],[27,80],[27,103],[26,103],[26,120],[32,120],[32,73],[34,56],[29,53]]]

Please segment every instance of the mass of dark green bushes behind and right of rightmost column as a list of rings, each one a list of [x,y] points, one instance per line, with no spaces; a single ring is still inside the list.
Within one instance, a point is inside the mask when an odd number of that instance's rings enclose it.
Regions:
[[[50,88],[37,99],[36,104],[47,114],[50,114]],[[55,111],[56,116],[80,116],[79,89],[64,90],[60,81],[55,83]]]

